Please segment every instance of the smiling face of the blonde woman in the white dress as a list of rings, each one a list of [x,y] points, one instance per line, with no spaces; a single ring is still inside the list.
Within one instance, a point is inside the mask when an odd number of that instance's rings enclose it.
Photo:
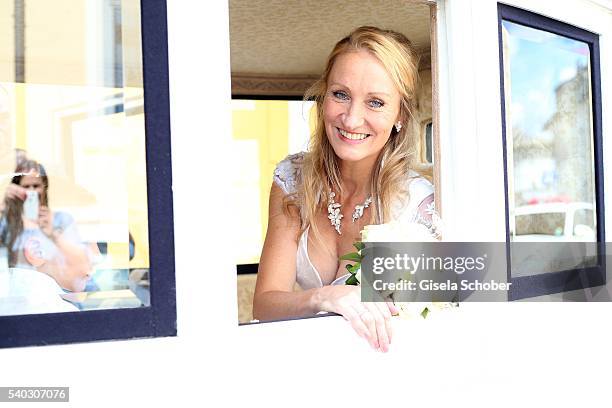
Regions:
[[[327,79],[323,120],[341,160],[376,158],[399,120],[400,94],[380,61],[361,50],[339,55]]]

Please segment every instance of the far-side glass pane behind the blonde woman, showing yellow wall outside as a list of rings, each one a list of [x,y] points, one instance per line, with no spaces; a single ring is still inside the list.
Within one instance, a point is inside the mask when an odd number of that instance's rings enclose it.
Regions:
[[[232,101],[234,202],[243,226],[236,263],[259,263],[268,226],[268,200],[274,168],[288,154],[306,151],[313,102]]]

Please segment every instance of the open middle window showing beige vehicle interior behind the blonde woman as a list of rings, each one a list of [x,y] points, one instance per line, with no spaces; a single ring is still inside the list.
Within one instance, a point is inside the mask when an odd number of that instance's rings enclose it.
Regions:
[[[312,124],[304,91],[324,69],[333,45],[361,25],[375,25],[405,34],[420,56],[418,107],[413,113],[416,170],[434,181],[433,151],[437,107],[434,3],[389,1],[366,4],[344,2],[356,10],[348,16],[333,7],[294,5],[292,15],[276,4],[231,0],[230,56],[233,96],[233,135],[240,178],[234,191],[240,225],[245,229],[236,245],[238,313],[240,322],[252,319],[251,304],[259,255],[265,237],[268,200],[276,164],[287,154],[307,150]],[[433,17],[432,17],[433,16]],[[267,21],[265,26],[245,21]],[[316,24],[313,25],[313,22]],[[432,23],[434,22],[434,23]],[[326,30],[314,26],[328,27]],[[275,27],[270,31],[267,27]],[[435,125],[433,123],[435,123]],[[428,125],[427,125],[428,124]],[[296,285],[296,290],[299,288]]]

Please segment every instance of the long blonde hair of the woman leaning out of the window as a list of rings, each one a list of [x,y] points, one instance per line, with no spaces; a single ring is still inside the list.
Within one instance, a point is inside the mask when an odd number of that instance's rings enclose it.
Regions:
[[[304,157],[299,187],[296,194],[287,198],[285,208],[297,206],[301,230],[310,226],[317,239],[320,233],[314,219],[318,211],[327,206],[329,191],[342,194],[338,157],[327,139],[323,121],[327,80],[339,55],[360,50],[369,51],[389,73],[401,97],[399,117],[403,124],[399,132],[392,131],[370,178],[373,199],[370,224],[391,219],[393,201],[406,197],[406,177],[416,157],[411,128],[418,79],[417,54],[403,34],[370,26],[359,27],[335,45],[327,58],[325,71],[304,95],[305,100],[315,101],[316,127],[310,138],[309,153]]]

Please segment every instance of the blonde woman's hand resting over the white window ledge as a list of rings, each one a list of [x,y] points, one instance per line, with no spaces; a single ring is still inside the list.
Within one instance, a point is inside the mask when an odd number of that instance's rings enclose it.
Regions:
[[[393,303],[361,302],[360,288],[351,285],[324,286],[319,296],[321,310],[341,314],[374,349],[389,350],[391,316],[398,313]]]

